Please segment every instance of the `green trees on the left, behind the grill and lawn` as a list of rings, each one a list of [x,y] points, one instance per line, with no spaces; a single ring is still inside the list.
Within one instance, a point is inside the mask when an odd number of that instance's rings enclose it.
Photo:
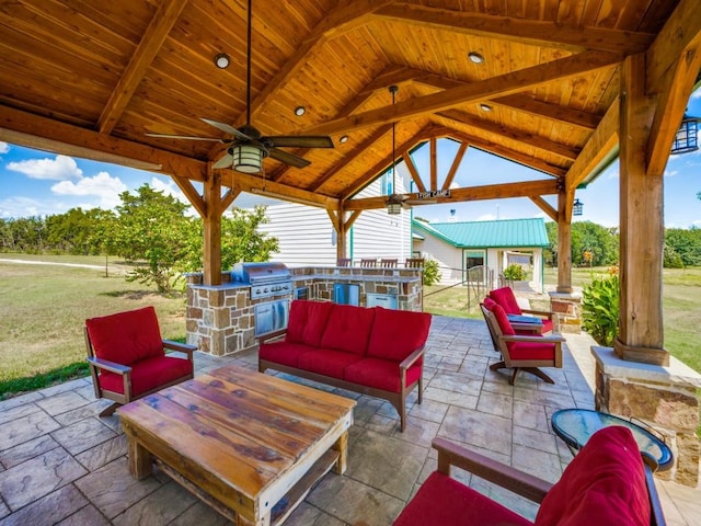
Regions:
[[[186,272],[203,268],[203,221],[175,197],[142,185],[119,194],[112,210],[71,208],[46,217],[0,219],[0,250],[71,255],[113,255],[134,263],[128,281],[169,291]],[[267,261],[278,241],[262,232],[265,207],[233,208],[221,218],[221,268]]]

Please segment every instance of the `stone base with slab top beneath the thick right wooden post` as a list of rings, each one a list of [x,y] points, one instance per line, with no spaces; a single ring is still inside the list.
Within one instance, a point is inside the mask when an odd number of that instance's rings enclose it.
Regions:
[[[669,366],[623,361],[611,347],[593,346],[596,409],[642,420],[665,437],[674,467],[658,477],[699,485],[699,399],[701,375],[674,356]]]

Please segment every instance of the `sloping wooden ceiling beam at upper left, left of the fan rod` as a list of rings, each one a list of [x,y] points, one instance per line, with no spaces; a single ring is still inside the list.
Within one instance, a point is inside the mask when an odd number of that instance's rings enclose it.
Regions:
[[[136,52],[131,56],[129,64],[102,111],[97,123],[97,130],[101,134],[110,134],[114,129],[122,113],[127,107],[141,79],[146,75],[146,70],[151,66],[156,55],[158,55],[168,34],[188,1],[189,0],[161,1],[141,42],[139,42]]]

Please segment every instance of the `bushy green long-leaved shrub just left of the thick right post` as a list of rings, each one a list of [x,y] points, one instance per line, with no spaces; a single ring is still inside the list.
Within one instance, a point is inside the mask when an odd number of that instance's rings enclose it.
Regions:
[[[582,327],[600,345],[611,346],[618,335],[619,277],[596,278],[584,287]]]

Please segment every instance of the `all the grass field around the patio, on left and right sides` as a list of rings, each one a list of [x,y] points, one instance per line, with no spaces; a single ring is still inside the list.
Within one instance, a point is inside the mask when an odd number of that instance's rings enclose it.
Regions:
[[[95,268],[60,264],[0,261],[0,385],[8,380],[46,374],[73,363],[84,363],[83,322],[87,318],[153,305],[163,338],[185,336],[185,298],[169,298],[152,288],[124,279],[128,265],[103,258],[32,256],[2,254],[0,260],[34,260],[95,265]],[[606,268],[576,268],[573,285],[582,287]],[[545,283],[554,285],[554,270]],[[665,270],[665,346],[679,359],[701,371],[701,268]],[[444,316],[482,318],[476,307],[483,291],[466,287],[426,288],[424,309]],[[437,294],[433,291],[440,290]],[[472,308],[468,300],[471,298]]]

